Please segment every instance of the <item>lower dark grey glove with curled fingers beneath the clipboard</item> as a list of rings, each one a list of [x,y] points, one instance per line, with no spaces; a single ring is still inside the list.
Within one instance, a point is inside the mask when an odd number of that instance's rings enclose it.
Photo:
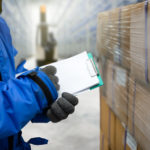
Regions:
[[[47,111],[47,117],[54,123],[64,120],[75,110],[78,98],[69,93],[63,93],[62,97],[55,101]]]

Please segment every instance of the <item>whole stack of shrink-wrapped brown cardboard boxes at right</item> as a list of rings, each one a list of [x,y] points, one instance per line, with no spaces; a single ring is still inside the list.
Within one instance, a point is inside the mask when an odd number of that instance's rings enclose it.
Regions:
[[[101,105],[103,107],[104,102],[109,105],[105,111],[101,108],[101,144],[111,150],[114,149],[112,143],[115,143],[115,150],[133,149],[133,138],[143,150],[149,150],[150,2],[100,13],[97,47],[104,80]],[[116,118],[113,131],[116,142],[111,142],[108,136],[111,127],[103,125],[110,122],[112,113]],[[109,118],[107,121],[105,116]]]

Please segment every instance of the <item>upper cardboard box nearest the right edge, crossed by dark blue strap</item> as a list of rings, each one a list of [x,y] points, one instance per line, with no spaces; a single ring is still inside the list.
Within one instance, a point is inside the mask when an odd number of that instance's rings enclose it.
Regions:
[[[136,79],[147,82],[146,72],[148,72],[148,80],[150,80],[150,9],[148,9],[146,31],[145,2],[133,6],[130,24],[131,73]],[[150,3],[148,7],[150,8]],[[146,35],[145,33],[148,34]],[[147,52],[146,40],[148,42]]]

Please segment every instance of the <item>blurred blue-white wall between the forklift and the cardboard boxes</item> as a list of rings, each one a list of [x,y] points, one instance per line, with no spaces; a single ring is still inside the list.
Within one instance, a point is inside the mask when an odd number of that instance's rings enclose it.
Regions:
[[[136,2],[137,0],[74,0],[68,2],[56,34],[59,55],[68,57],[88,50],[98,56],[96,50],[97,14]]]

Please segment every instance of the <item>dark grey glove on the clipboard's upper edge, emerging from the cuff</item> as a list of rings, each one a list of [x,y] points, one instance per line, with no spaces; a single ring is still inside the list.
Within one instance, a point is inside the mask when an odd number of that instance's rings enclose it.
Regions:
[[[43,71],[50,78],[50,80],[54,84],[56,90],[59,91],[59,89],[60,89],[60,86],[58,84],[59,79],[57,76],[55,76],[56,68],[53,66],[47,66],[45,68],[42,68],[41,71]]]

